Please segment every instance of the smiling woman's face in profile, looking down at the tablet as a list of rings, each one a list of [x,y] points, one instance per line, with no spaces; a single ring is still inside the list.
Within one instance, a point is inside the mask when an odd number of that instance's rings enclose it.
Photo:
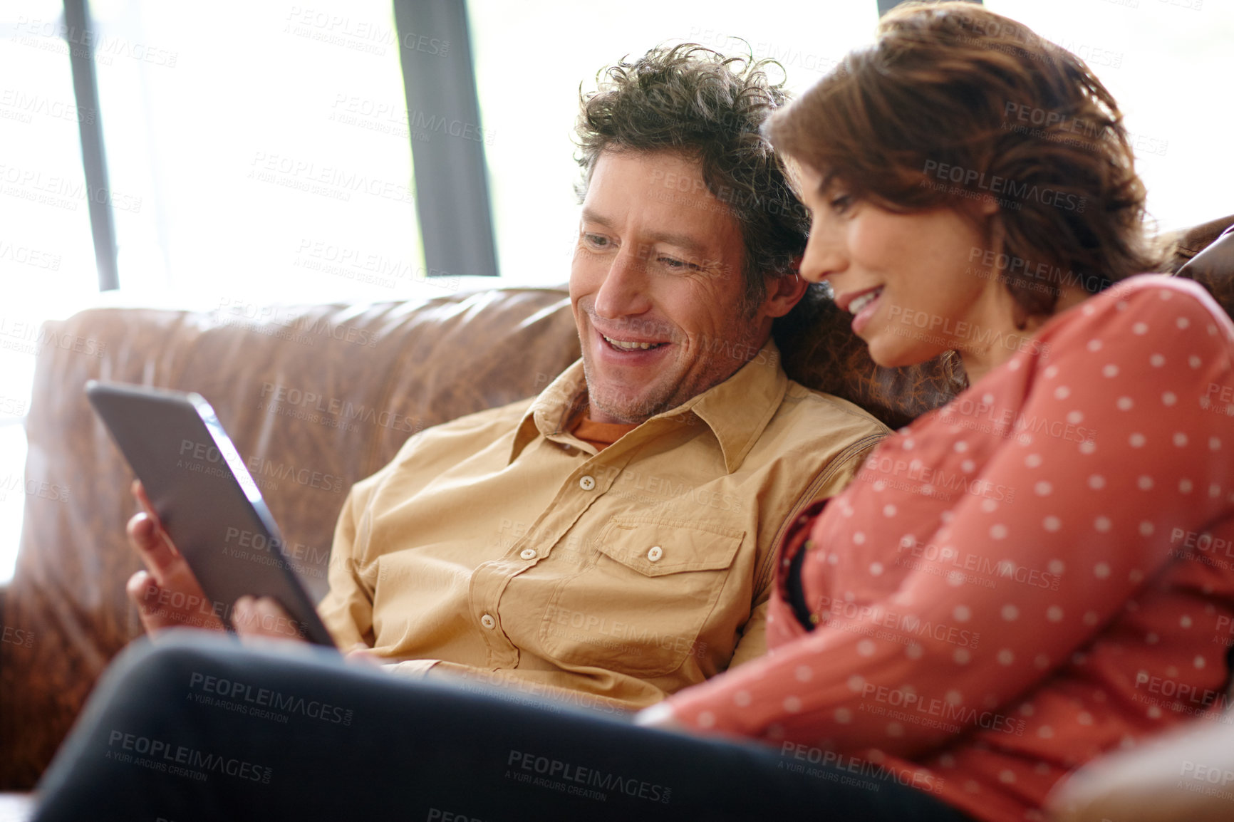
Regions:
[[[1008,334],[1022,336],[972,222],[951,209],[893,214],[854,200],[839,183],[821,189],[808,168],[798,179],[813,215],[801,275],[830,284],[874,362],[912,365],[958,349],[966,367],[985,364],[1006,351]]]

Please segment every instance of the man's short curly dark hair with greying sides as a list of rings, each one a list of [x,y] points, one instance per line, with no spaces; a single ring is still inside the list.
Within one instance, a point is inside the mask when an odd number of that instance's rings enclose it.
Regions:
[[[586,194],[605,151],[671,151],[697,159],[711,194],[742,228],[747,307],[761,302],[764,275],[796,272],[810,215],[760,127],[789,95],[766,69],[774,60],[726,57],[682,43],[653,48],[601,69],[595,91],[579,91],[575,132]]]

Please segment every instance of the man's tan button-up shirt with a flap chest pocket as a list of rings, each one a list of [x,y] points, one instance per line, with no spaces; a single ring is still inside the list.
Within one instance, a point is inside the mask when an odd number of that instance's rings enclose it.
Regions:
[[[628,708],[766,650],[779,537],[886,427],[771,342],[598,453],[568,431],[585,395],[579,362],[355,484],[318,605],[341,647]]]

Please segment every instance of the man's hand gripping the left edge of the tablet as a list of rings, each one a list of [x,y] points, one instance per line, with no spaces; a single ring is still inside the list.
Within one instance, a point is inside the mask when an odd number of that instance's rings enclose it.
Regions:
[[[128,544],[142,558],[146,570],[130,576],[125,590],[137,606],[146,633],[155,636],[164,628],[222,631],[222,604],[216,607],[206,599],[189,563],[163,531],[139,481],[133,481],[132,491],[142,512],[128,521]]]

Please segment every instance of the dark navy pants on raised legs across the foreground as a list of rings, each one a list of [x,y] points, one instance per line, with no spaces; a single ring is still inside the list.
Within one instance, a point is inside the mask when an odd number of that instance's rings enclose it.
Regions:
[[[43,778],[36,818],[967,818],[869,763],[824,762],[835,754],[193,634],[116,660]]]

